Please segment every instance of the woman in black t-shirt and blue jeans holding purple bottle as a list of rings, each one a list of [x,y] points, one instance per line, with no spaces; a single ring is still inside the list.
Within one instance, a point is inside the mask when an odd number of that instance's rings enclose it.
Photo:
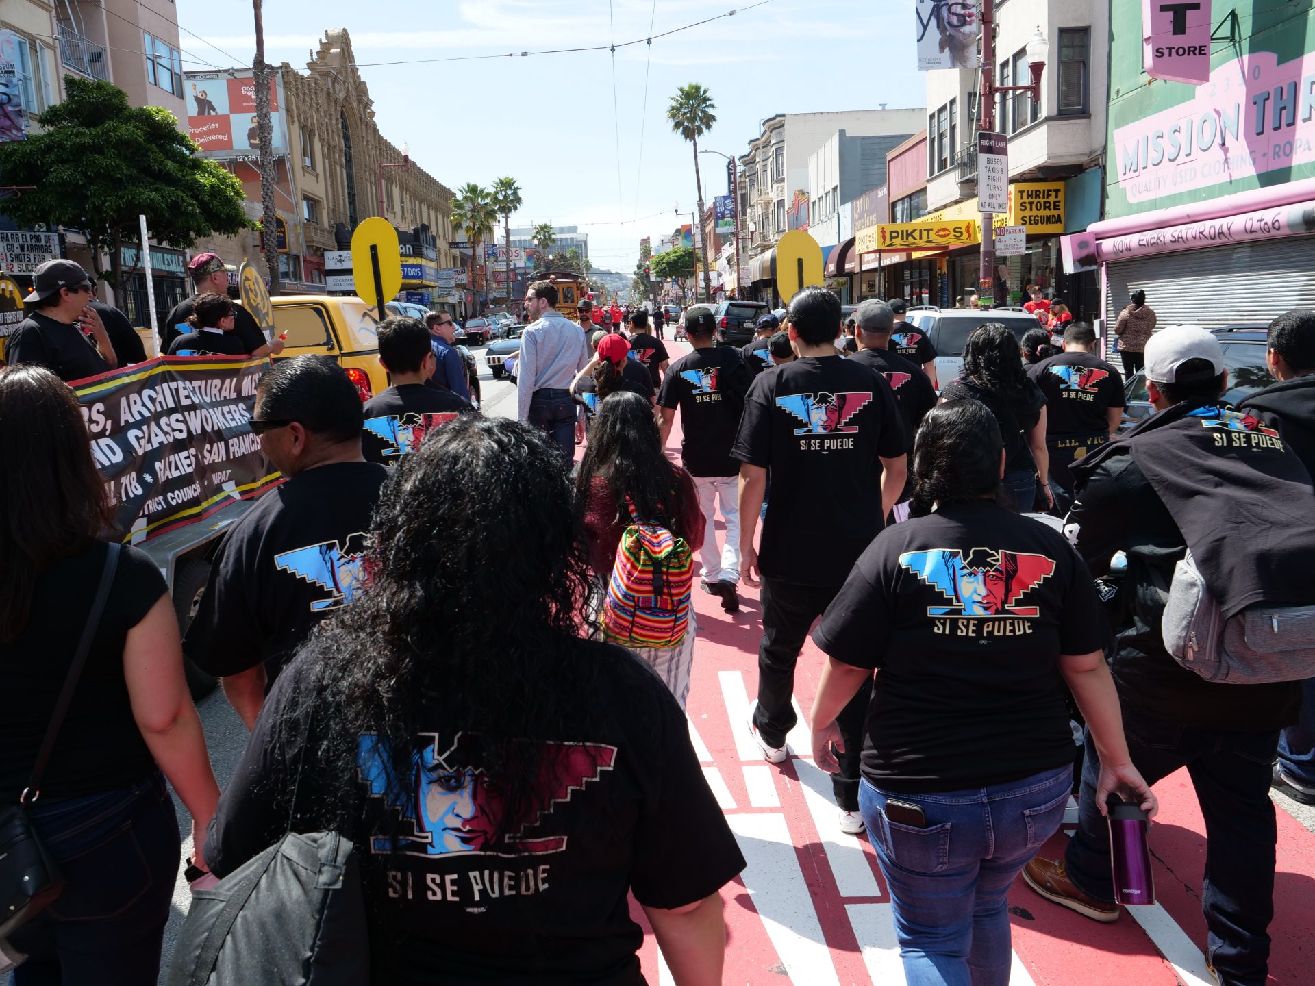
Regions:
[[[913,518],[868,546],[814,639],[810,722],[839,769],[835,716],[876,670],[859,803],[910,983],[1005,986],[1006,894],[1073,790],[1072,690],[1101,751],[1097,805],[1156,798],[1132,766],[1105,664],[1109,624],[1061,534],[995,504],[994,415],[955,400],[914,440]]]

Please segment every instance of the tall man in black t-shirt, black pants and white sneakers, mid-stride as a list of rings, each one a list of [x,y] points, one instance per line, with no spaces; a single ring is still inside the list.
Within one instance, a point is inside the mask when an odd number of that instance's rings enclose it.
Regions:
[[[885,377],[836,352],[840,300],[825,288],[790,298],[798,359],[748,390],[731,455],[740,461],[740,578],[761,585],[757,705],[748,728],[768,763],[788,756],[797,716],[794,665],[809,630],[840,590],[903,490],[909,433]],[[772,497],[753,547],[768,472]],[[839,714],[849,751],[832,778],[842,831],[863,831],[860,731],[868,695]]]

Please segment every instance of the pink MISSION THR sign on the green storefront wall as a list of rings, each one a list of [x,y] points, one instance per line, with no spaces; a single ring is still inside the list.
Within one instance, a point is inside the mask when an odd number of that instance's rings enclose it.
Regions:
[[[1256,51],[1219,66],[1194,99],[1114,131],[1130,202],[1235,184],[1315,162],[1315,54]],[[1112,162],[1111,162],[1112,163]]]

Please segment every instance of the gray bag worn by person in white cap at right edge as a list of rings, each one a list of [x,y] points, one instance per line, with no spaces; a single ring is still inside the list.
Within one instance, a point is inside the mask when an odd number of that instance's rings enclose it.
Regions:
[[[1257,602],[1226,619],[1190,551],[1173,568],[1160,630],[1173,659],[1206,681],[1315,677],[1315,606]]]

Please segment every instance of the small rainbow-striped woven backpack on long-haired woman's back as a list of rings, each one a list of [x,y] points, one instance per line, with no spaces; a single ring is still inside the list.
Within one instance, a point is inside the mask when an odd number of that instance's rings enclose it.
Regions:
[[[676,647],[689,628],[694,552],[684,538],[639,519],[626,497],[630,526],[621,534],[600,623],[604,639],[625,647]]]

